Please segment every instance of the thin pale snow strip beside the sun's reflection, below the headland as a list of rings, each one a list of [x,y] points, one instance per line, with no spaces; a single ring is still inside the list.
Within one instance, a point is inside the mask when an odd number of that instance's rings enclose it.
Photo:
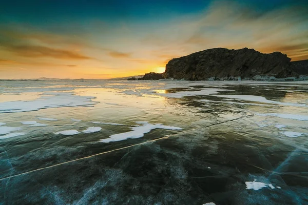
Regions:
[[[156,93],[156,95],[172,97],[172,98],[182,98],[185,96],[217,94],[218,92],[221,92],[221,91],[233,91],[233,90],[207,88],[207,89],[202,89],[199,91],[181,91],[181,92],[176,92],[176,93]]]

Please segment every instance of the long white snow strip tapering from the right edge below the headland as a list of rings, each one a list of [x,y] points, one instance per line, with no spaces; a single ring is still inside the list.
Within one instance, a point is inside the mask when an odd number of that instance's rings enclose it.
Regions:
[[[256,96],[256,95],[213,95],[213,96],[224,97],[224,98],[233,98],[233,99],[241,99],[241,100],[246,100],[246,101],[255,101],[255,102],[266,103],[266,104],[277,104],[277,105],[283,105],[283,106],[308,107],[308,105],[306,105],[306,104],[283,103],[283,102],[279,102],[279,101],[268,100],[265,97]]]

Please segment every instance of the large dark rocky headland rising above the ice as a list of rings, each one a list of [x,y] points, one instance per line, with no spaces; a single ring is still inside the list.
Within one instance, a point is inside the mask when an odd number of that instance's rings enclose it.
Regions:
[[[298,76],[290,61],[291,58],[280,52],[263,54],[247,48],[214,48],[170,60],[166,65],[165,77],[206,80],[210,77]]]

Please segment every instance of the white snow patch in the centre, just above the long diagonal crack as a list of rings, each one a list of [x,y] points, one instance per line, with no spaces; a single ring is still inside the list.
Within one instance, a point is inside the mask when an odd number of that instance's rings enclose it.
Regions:
[[[139,121],[138,124],[143,124],[141,126],[131,127],[132,131],[124,132],[120,134],[114,134],[109,136],[107,139],[101,139],[101,142],[108,143],[110,141],[122,141],[125,139],[135,139],[143,137],[145,133],[149,133],[151,130],[154,129],[165,129],[165,130],[183,130],[182,128],[172,127],[172,126],[165,126],[162,124],[149,124],[146,121]]]

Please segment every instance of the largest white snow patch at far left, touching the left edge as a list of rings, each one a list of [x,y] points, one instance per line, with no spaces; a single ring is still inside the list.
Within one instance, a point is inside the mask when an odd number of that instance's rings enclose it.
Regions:
[[[0,103],[0,113],[28,112],[44,108],[84,107],[94,105],[91,96],[74,95],[72,92],[48,92],[30,101],[6,101]]]

